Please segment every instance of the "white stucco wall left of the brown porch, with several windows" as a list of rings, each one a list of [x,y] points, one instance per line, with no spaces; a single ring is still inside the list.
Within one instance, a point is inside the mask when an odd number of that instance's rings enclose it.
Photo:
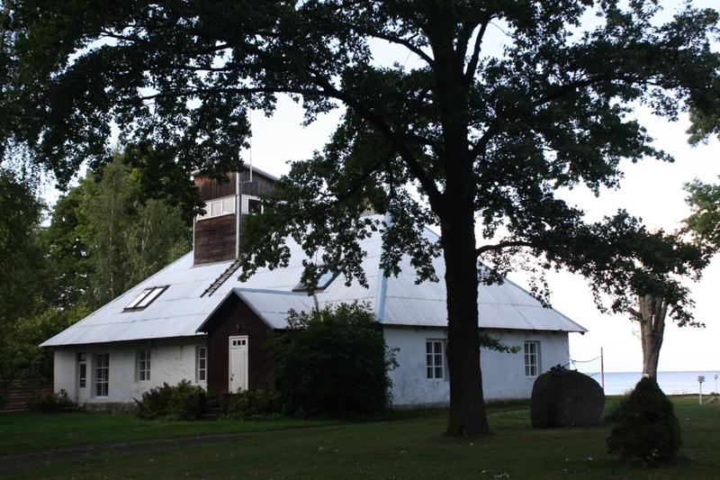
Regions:
[[[204,336],[194,338],[162,339],[153,341],[119,342],[103,345],[57,347],[55,349],[55,391],[64,389],[71,400],[78,402],[77,353],[87,353],[86,406],[93,403],[134,403],[143,392],[167,383],[177,385],[189,380],[193,385],[206,388],[206,382],[196,378],[196,348],[205,346]],[[150,379],[140,381],[138,352],[150,350]],[[108,395],[94,393],[94,362],[98,354],[109,354],[110,372]]]

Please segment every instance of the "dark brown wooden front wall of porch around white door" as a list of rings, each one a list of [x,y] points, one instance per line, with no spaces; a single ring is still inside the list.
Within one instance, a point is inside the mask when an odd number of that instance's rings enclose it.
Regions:
[[[202,330],[208,334],[209,392],[229,392],[229,339],[238,336],[247,337],[247,389],[270,389],[269,361],[262,349],[270,329],[237,295],[231,295]]]

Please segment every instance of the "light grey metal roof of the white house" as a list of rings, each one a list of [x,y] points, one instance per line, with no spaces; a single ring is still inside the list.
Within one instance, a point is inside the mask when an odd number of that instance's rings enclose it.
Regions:
[[[438,238],[428,229],[426,235],[429,240]],[[308,310],[316,301],[320,307],[342,302],[365,302],[378,321],[388,325],[447,325],[443,280],[445,264],[442,258],[434,260],[440,278],[437,283],[416,285],[417,276],[410,265],[410,258],[401,260],[399,276],[386,278],[379,267],[382,239],[380,233],[375,232],[362,241],[367,254],[363,267],[368,288],[356,281],[345,285],[345,278],[338,276],[313,299],[305,293],[293,293],[293,287],[300,282],[305,256],[292,240],[288,241],[288,246],[292,252],[288,267],[260,269],[244,283],[234,275],[210,296],[201,295],[232,261],[193,266],[193,253],[188,253],[41,346],[196,336],[201,334],[204,323],[231,294],[238,295],[271,328],[283,328],[284,312],[289,308]],[[164,285],[168,285],[167,289],[144,309],[126,310],[146,289]],[[562,313],[544,308],[527,291],[509,280],[503,285],[478,285],[478,305],[479,325],[484,328],[586,331]]]

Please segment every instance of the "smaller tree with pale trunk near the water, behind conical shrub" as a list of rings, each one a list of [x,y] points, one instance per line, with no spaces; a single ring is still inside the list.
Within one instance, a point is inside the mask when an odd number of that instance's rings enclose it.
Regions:
[[[593,257],[605,260],[580,264],[601,312],[626,314],[637,323],[643,349],[643,374],[657,378],[665,324],[705,327],[692,313],[687,285],[699,281],[716,247],[707,241],[688,241],[686,231],[647,231],[626,213],[608,219],[599,236],[610,249]],[[608,265],[614,267],[608,268]],[[609,304],[608,304],[609,303]]]

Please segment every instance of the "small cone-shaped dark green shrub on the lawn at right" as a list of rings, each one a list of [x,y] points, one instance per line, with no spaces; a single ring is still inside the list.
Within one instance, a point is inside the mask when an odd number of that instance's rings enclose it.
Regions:
[[[682,444],[680,422],[657,382],[645,377],[635,385],[610,431],[608,452],[653,463],[673,457]]]

